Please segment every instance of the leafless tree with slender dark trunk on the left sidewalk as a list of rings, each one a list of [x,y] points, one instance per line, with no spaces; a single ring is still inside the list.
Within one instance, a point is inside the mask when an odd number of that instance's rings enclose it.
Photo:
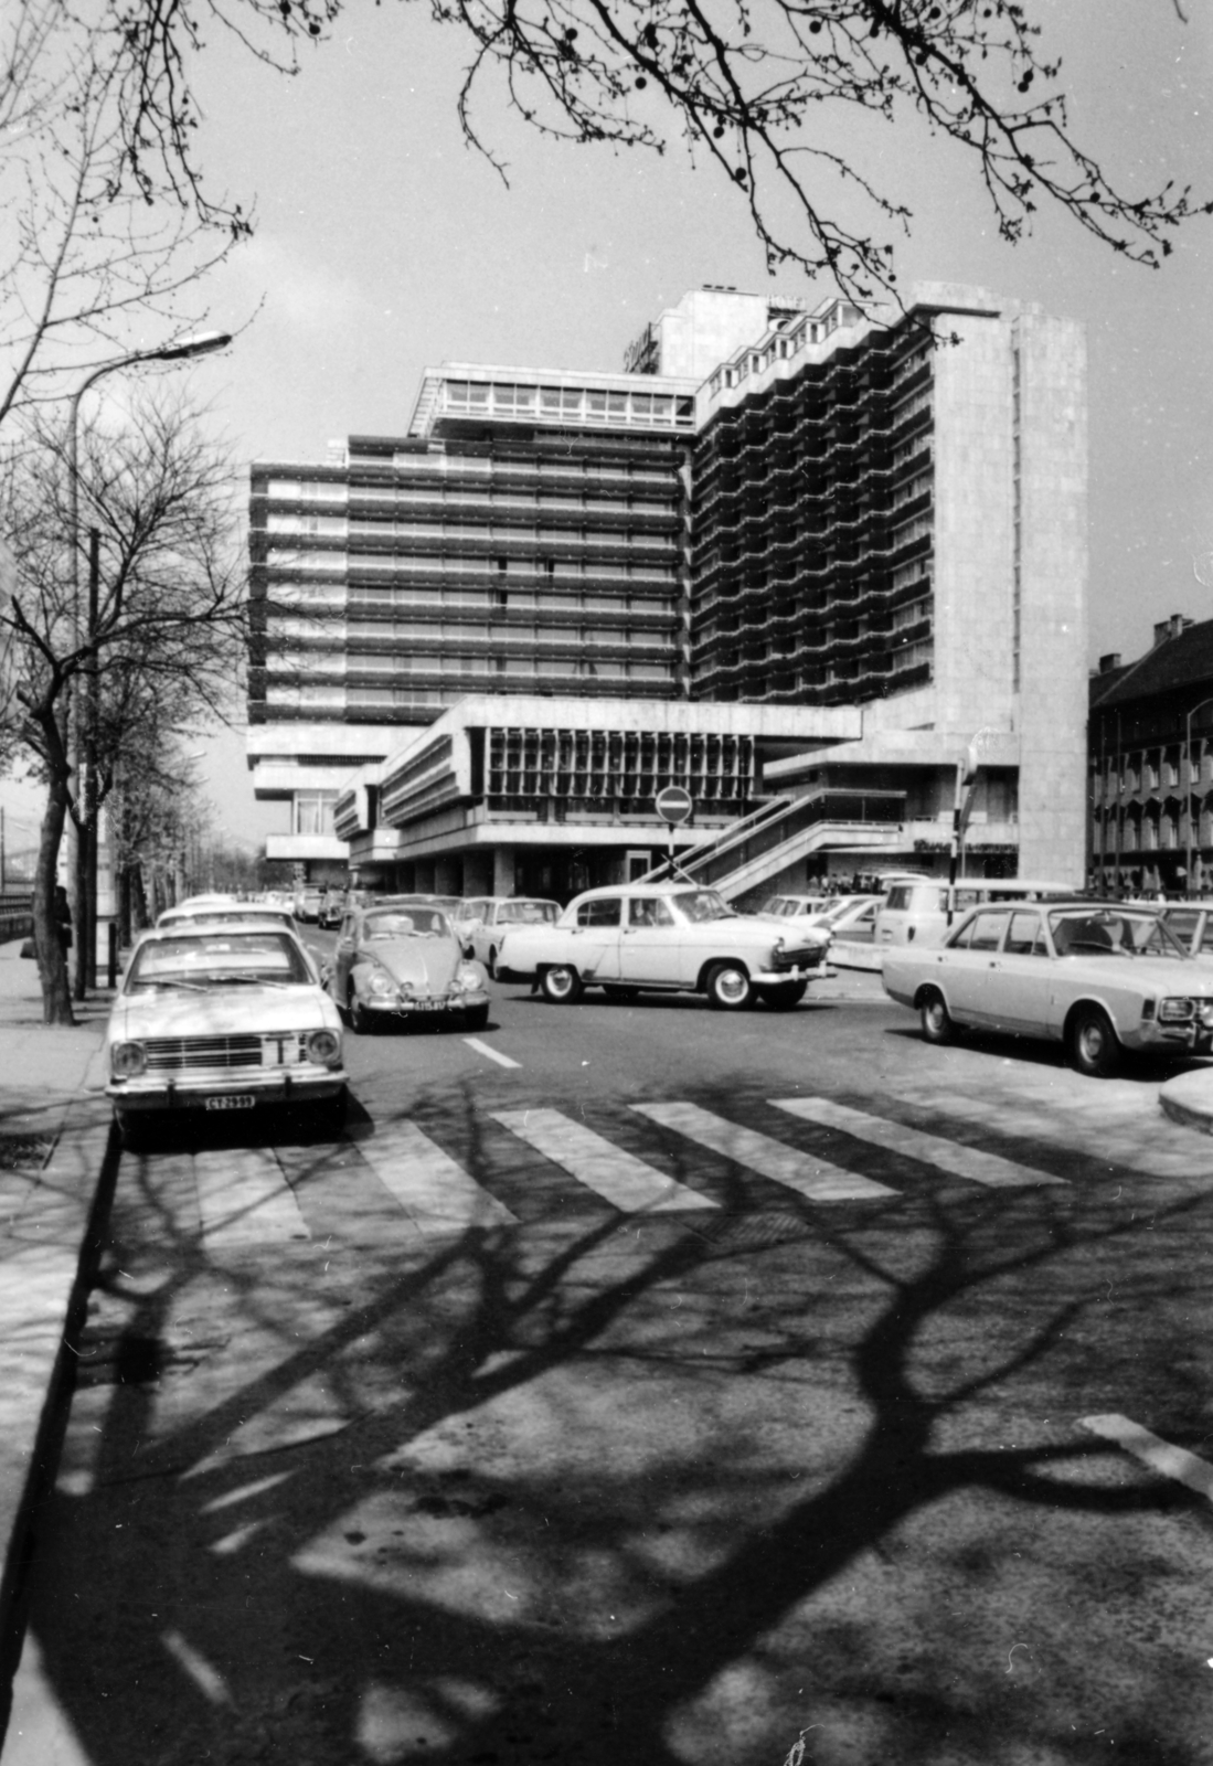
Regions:
[[[0,494],[18,560],[18,588],[0,608],[5,721],[48,793],[34,890],[48,1023],[72,1019],[53,924],[67,818],[88,834],[122,768],[147,761],[150,733],[164,742],[222,713],[245,627],[231,468],[196,410],[148,399],[120,433],[87,434],[78,486],[79,528],[95,533],[88,608],[72,586],[69,480],[62,433],[37,424],[11,452]],[[90,758],[83,789],[72,699]]]

